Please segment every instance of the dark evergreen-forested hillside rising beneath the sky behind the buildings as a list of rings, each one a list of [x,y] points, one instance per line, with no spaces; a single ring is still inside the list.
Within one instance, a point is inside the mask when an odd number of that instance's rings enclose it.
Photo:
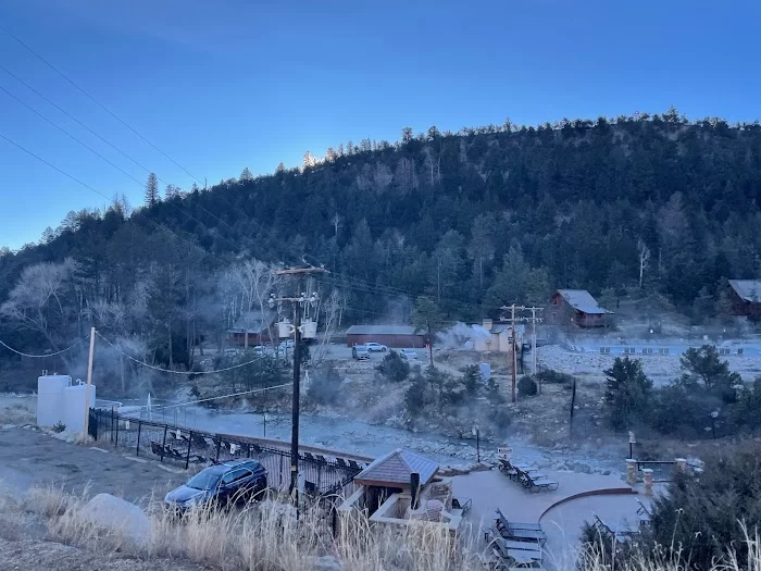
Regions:
[[[166,362],[167,330],[176,359],[234,321],[230,269],[251,259],[325,264],[321,289],[336,289],[345,323],[407,319],[420,295],[477,320],[551,288],[640,285],[708,314],[723,278],[761,275],[761,126],[674,110],[404,129],[163,200],[154,184],[152,206],[72,212],[39,245],[0,253],[0,338],[49,349],[96,323]]]

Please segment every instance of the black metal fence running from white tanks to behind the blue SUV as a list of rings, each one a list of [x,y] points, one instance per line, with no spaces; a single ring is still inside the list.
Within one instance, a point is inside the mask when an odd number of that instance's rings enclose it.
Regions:
[[[91,409],[89,433],[97,442],[134,450],[136,456],[185,468],[203,467],[233,459],[253,458],[267,471],[271,488],[290,487],[290,449],[262,444],[245,436],[212,434],[183,426],[118,414],[115,410]],[[304,493],[312,497],[348,496],[354,477],[364,466],[353,459],[302,451],[299,472]]]

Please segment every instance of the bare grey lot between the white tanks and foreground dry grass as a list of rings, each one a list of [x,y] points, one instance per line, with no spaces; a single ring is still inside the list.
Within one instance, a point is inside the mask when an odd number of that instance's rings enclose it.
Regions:
[[[151,494],[163,498],[187,479],[158,462],[137,462],[123,454],[68,444],[29,429],[0,431],[0,484],[20,493],[34,485],[61,485],[75,493],[89,486],[91,495],[109,493],[141,502]]]

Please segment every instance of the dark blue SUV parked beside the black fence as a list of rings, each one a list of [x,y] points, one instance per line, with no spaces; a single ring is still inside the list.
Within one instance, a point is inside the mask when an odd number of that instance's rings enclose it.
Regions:
[[[255,460],[230,460],[201,470],[164,498],[166,508],[179,513],[192,507],[248,499],[266,488],[266,470]]]

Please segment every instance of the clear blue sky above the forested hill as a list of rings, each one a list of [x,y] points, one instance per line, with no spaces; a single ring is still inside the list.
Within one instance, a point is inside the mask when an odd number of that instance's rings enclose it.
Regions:
[[[0,24],[210,183],[362,138],[662,112],[752,121],[761,3],[3,0]],[[0,30],[0,64],[167,183],[194,179]],[[147,173],[0,70],[0,87]],[[141,185],[0,90],[0,134],[105,196]],[[0,246],[107,200],[0,139]],[[162,185],[163,186],[163,185]]]

